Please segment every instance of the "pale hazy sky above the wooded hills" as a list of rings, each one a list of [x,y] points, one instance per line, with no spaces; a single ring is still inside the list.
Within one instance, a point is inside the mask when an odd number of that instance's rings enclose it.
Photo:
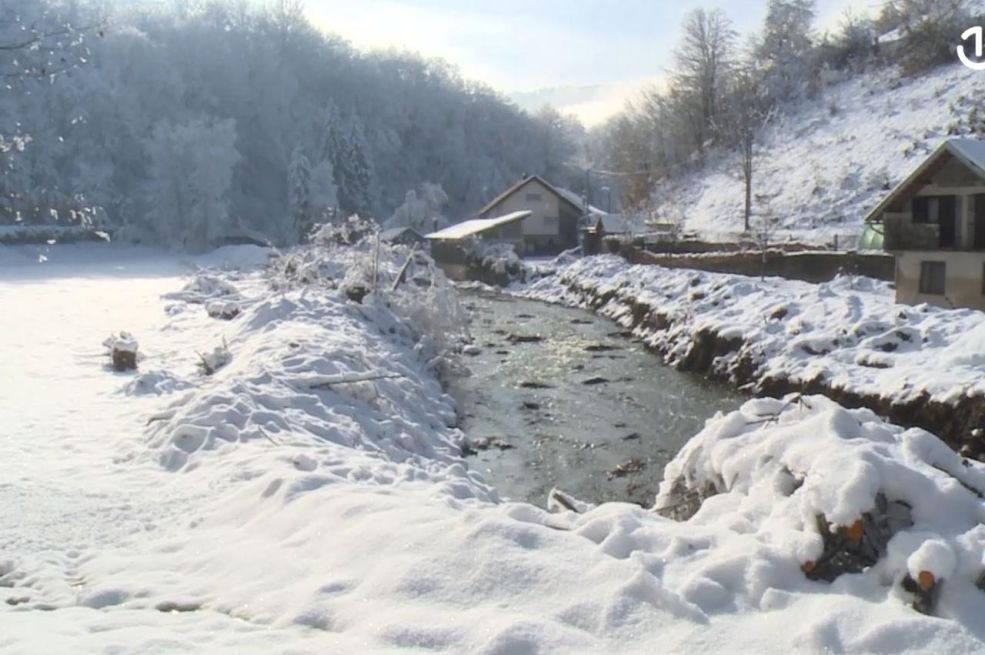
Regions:
[[[818,0],[818,24],[847,7],[864,13],[878,0]],[[358,47],[401,49],[454,63],[506,93],[604,85],[589,114],[659,79],[670,64],[681,20],[694,7],[720,7],[747,34],[766,0],[307,0],[311,19]],[[604,105],[601,106],[600,105]],[[611,109],[608,105],[612,105]],[[578,107],[571,107],[582,113]],[[583,116],[594,122],[597,116]]]

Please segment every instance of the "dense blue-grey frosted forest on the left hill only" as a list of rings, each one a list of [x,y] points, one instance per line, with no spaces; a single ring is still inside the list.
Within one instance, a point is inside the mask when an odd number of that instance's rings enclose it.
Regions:
[[[0,74],[0,225],[191,251],[422,205],[459,220],[525,173],[567,179],[580,130],[445,62],[357,51],[299,0],[0,0]]]

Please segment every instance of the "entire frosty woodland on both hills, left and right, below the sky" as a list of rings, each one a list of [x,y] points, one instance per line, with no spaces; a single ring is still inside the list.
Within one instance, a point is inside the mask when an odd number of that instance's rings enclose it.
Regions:
[[[666,213],[685,204],[675,180],[728,155],[748,231],[764,126],[852,76],[952,60],[969,5],[889,0],[821,31],[813,0],[769,0],[744,39],[722,9],[694,9],[664,80],[587,133],[450,63],[359,51],[301,0],[0,0],[0,226],[287,245],[352,214],[461,220],[524,174],[579,193],[588,178],[590,198],[611,188],[616,208]]]

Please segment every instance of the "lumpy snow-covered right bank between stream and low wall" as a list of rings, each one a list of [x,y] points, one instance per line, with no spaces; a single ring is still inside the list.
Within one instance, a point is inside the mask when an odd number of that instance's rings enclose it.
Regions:
[[[605,255],[562,266],[524,294],[583,304],[585,292],[611,294],[602,311],[624,324],[640,307],[662,315],[666,324],[638,332],[671,363],[688,357],[704,331],[735,341],[712,366],[740,379],[821,382],[898,403],[985,395],[985,313],[897,305],[889,286],[871,278],[761,280]]]

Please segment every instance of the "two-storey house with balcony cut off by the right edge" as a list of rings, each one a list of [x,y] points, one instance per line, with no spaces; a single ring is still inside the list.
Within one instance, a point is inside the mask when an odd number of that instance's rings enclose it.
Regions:
[[[896,257],[897,302],[985,309],[985,142],[944,141],[865,221]]]

